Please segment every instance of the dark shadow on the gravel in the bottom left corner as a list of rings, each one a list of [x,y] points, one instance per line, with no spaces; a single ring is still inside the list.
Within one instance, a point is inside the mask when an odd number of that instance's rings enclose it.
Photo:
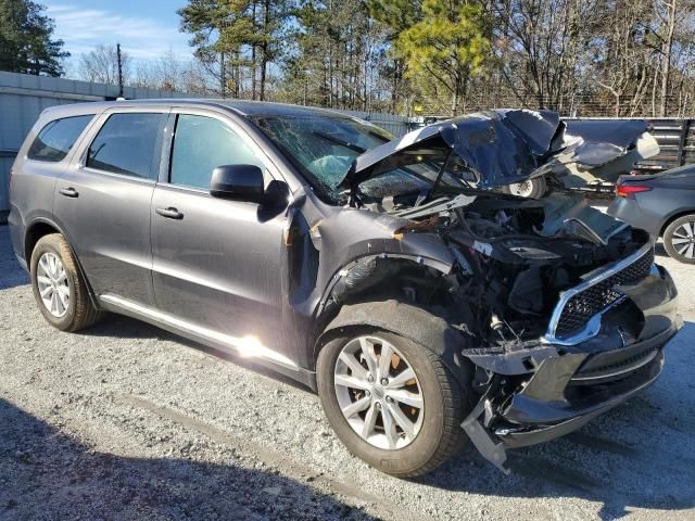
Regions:
[[[374,519],[233,462],[92,450],[3,399],[0,455],[2,519]]]

